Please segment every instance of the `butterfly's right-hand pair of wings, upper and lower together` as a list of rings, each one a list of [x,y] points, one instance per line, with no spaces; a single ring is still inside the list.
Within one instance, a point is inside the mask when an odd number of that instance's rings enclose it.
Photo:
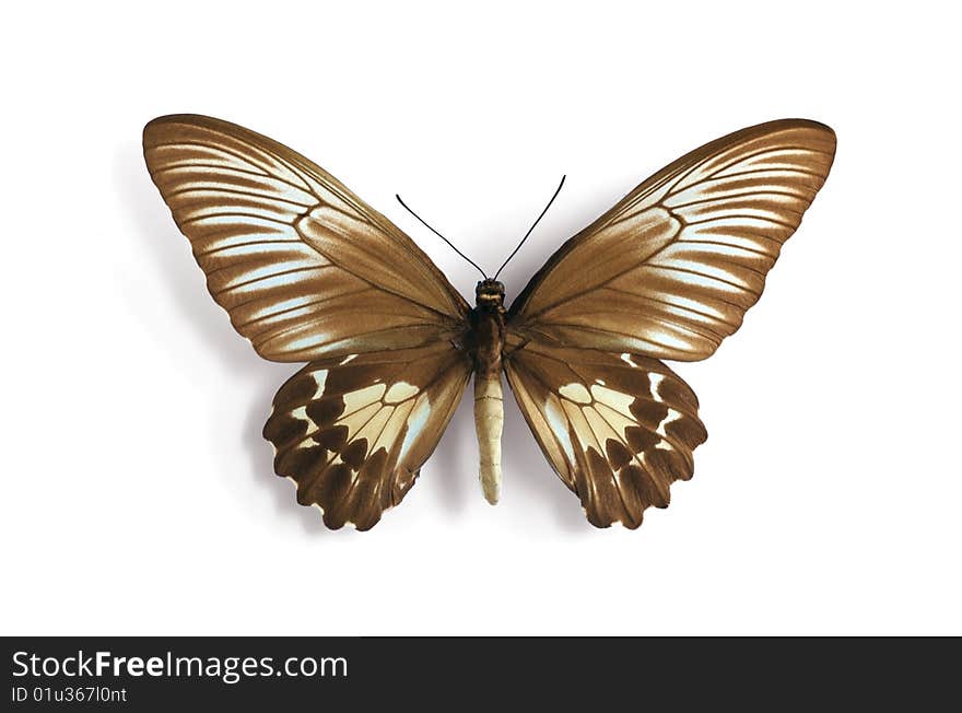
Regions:
[[[691,478],[707,434],[658,359],[705,359],[739,328],[834,151],[830,128],[798,119],[713,141],[565,243],[512,305],[508,383],[594,525],[637,527]]]

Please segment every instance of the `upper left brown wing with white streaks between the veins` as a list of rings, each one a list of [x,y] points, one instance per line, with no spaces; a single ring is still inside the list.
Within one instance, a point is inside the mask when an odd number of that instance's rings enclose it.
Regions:
[[[211,294],[265,359],[421,347],[462,325],[430,258],[291,149],[183,115],[148,124],[143,150]]]

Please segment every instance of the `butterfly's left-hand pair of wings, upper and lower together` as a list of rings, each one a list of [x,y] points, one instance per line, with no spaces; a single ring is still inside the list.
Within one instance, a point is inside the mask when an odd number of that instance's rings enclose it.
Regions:
[[[464,391],[468,304],[386,218],[267,137],[168,116],[145,127],[143,147],[237,331],[265,359],[310,362],[265,426],[275,471],[329,527],[373,527]]]

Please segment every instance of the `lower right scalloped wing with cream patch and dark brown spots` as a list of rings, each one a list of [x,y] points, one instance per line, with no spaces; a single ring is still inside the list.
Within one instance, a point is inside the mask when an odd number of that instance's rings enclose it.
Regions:
[[[597,527],[635,528],[692,477],[699,401],[656,359],[528,342],[505,372],[545,457]]]

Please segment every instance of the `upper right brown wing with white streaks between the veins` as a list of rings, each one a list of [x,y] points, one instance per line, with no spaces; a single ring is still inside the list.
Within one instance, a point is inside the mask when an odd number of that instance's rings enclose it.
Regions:
[[[565,243],[509,327],[565,347],[705,359],[758,301],[834,152],[832,129],[785,119],[689,153]]]

